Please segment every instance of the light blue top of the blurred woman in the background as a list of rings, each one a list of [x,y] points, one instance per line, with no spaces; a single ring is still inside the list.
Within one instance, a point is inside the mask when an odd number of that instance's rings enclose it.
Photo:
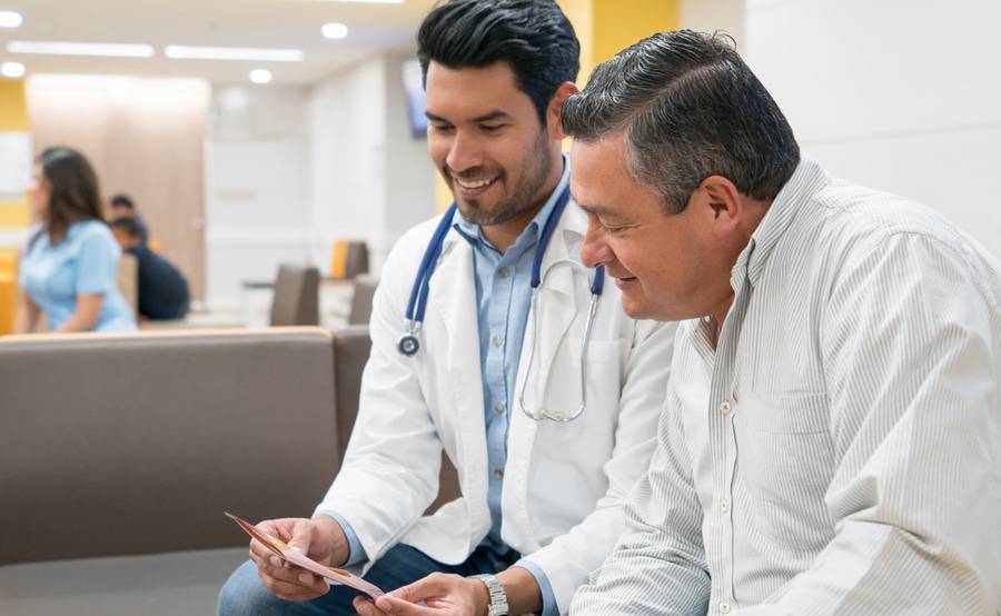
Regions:
[[[118,290],[121,249],[100,220],[70,225],[57,245],[42,231],[21,259],[18,282],[57,330],[77,311],[78,295],[103,295],[95,331],[136,329],[132,310]]]

